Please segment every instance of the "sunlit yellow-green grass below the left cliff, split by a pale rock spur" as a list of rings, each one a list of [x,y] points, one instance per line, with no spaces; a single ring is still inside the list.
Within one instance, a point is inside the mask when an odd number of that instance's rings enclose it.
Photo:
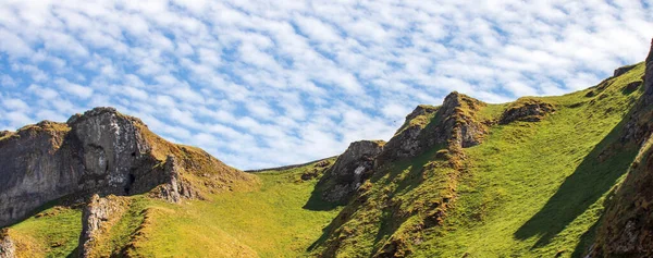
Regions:
[[[331,160],[333,162],[333,160]],[[131,254],[173,257],[297,257],[321,234],[337,209],[304,209],[317,180],[300,181],[312,164],[257,173],[260,189],[210,195],[209,200],[171,205],[133,196],[130,210],[111,229],[100,253],[128,244]],[[12,237],[32,247],[25,257],[65,257],[77,245],[79,209],[30,218],[11,228]],[[60,247],[51,247],[63,243]]]

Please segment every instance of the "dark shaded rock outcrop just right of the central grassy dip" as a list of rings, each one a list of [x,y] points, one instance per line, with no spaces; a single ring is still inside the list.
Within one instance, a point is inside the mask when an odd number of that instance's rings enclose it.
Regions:
[[[349,145],[318,183],[323,188],[322,198],[332,202],[346,202],[374,168],[374,158],[384,142],[360,140]]]

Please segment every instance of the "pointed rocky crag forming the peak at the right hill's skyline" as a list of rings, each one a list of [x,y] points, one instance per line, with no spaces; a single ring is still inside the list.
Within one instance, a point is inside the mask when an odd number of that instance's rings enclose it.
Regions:
[[[436,145],[471,147],[481,143],[488,132],[476,112],[485,103],[456,91],[444,99],[436,109],[416,109],[406,118],[408,126],[398,132],[379,156],[381,163],[416,157]],[[434,112],[432,116],[428,116]],[[423,123],[410,123],[417,118]]]

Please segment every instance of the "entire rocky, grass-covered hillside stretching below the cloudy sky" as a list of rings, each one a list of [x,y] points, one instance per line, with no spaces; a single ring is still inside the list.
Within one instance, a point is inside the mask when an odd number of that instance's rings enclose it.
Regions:
[[[653,53],[564,96],[452,93],[387,142],[251,173],[94,109],[0,134],[0,257],[648,257],[651,105]]]

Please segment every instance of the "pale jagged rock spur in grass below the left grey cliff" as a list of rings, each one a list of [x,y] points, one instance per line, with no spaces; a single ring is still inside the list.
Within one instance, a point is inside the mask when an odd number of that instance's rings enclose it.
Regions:
[[[79,257],[96,257],[94,248],[106,236],[111,226],[120,220],[128,206],[128,199],[118,196],[100,198],[93,195],[82,211],[82,234],[77,247]]]

